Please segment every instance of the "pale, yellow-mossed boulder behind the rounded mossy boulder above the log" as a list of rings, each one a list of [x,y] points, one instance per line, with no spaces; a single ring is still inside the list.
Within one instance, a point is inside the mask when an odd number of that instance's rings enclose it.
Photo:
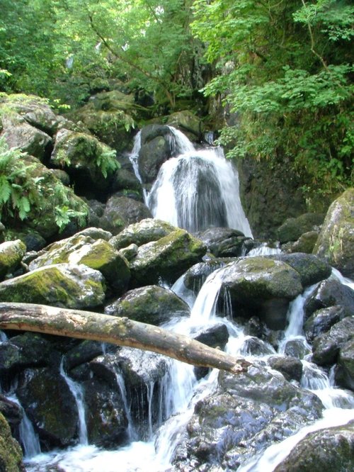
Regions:
[[[91,229],[89,232],[79,232],[66,240],[53,243],[30,262],[30,269],[64,262],[84,264],[100,271],[116,295],[123,293],[130,280],[127,260],[109,242],[101,239],[93,240],[89,234],[96,233]]]

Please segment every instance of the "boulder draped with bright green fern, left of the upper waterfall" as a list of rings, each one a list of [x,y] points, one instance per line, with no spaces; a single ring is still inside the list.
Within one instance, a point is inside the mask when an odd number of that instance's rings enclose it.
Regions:
[[[83,195],[108,191],[119,165],[115,151],[92,135],[61,129],[50,157],[53,166],[64,169]]]

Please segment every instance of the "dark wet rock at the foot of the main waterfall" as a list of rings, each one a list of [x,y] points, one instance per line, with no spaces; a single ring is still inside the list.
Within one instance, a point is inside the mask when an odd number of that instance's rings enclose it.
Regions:
[[[246,238],[241,231],[227,227],[211,227],[196,234],[215,257],[237,257],[242,255]]]

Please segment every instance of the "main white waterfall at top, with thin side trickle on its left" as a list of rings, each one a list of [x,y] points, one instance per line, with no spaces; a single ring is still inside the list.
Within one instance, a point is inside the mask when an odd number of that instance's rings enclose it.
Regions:
[[[154,218],[189,232],[230,227],[250,236],[251,228],[239,199],[239,176],[219,147],[195,150],[183,133],[170,127],[172,154],[162,164],[145,201]],[[139,181],[136,138],[130,160]],[[173,144],[172,144],[173,143]]]

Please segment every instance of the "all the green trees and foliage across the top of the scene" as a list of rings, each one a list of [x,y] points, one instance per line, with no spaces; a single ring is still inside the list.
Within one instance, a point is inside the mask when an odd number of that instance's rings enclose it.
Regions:
[[[232,113],[217,122],[229,154],[292,167],[311,203],[353,183],[353,13],[346,0],[1,0],[0,90],[65,107],[119,84],[152,116],[202,90]]]

